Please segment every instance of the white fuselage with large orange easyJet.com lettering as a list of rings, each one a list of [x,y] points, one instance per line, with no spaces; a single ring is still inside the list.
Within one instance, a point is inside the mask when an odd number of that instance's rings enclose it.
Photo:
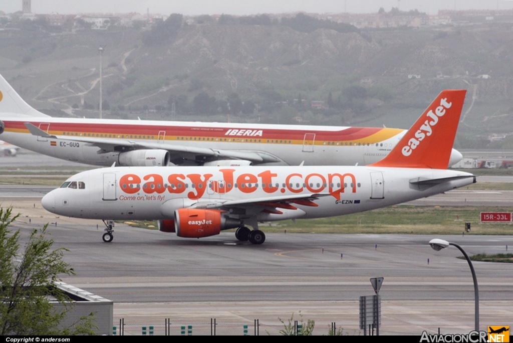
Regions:
[[[440,180],[419,186],[418,180]],[[70,182],[75,186],[70,188]],[[172,219],[176,209],[236,208],[258,221],[321,218],[400,204],[475,182],[461,171],[351,166],[114,167],[72,176],[43,198],[47,210],[88,219]],[[76,186],[80,185],[80,186]],[[280,201],[312,197],[318,206]],[[259,207],[260,206],[260,207]]]

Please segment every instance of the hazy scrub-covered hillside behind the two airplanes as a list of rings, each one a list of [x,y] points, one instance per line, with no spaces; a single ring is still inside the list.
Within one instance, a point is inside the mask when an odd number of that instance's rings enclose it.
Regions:
[[[100,46],[107,117],[169,119],[174,100],[177,120],[226,121],[230,114],[232,121],[407,128],[441,90],[467,89],[460,135],[511,134],[511,30],[481,24],[307,33],[204,24],[183,25],[151,44],[148,30],[4,30],[0,72],[43,112],[90,117],[97,116]],[[311,100],[330,109],[311,108]]]

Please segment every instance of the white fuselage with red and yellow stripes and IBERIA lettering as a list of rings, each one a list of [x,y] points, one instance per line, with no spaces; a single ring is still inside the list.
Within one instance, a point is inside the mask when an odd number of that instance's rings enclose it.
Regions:
[[[140,120],[95,120],[62,118],[9,118],[5,114],[0,137],[17,146],[65,160],[110,166],[119,162],[120,151],[100,151],[80,139],[97,139],[114,146],[116,141],[166,144],[225,151],[267,152],[277,165],[369,164],[386,156],[405,131],[392,128],[353,128],[300,125],[257,125]],[[33,136],[24,123],[30,122],[58,138]],[[65,136],[71,139],[67,140]],[[187,157],[187,152],[180,152]],[[173,152],[171,151],[171,156]],[[269,163],[269,164],[271,164]],[[184,165],[196,165],[194,157]]]

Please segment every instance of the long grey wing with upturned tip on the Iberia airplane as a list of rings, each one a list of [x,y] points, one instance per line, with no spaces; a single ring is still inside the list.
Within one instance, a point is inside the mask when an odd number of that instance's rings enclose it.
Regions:
[[[176,159],[196,160],[196,157],[207,157],[207,161],[212,160],[248,160],[255,164],[282,162],[281,159],[262,151],[235,151],[224,149],[211,149],[179,144],[167,143],[148,143],[139,142],[129,139],[120,138],[98,138],[98,137],[83,137],[83,136],[56,136],[49,135],[37,126],[31,123],[25,123],[29,132],[34,136],[42,136],[46,138],[63,139],[69,141],[83,142],[89,146],[97,146],[98,154],[113,152],[113,151],[130,151],[137,149],[163,149],[170,152],[172,155],[171,161]]]

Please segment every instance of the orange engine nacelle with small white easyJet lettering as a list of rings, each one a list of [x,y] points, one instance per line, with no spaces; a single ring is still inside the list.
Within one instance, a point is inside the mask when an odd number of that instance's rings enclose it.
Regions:
[[[223,211],[181,208],[174,211],[174,226],[178,237],[201,238],[219,234],[221,230],[241,226],[241,221],[228,218]]]

